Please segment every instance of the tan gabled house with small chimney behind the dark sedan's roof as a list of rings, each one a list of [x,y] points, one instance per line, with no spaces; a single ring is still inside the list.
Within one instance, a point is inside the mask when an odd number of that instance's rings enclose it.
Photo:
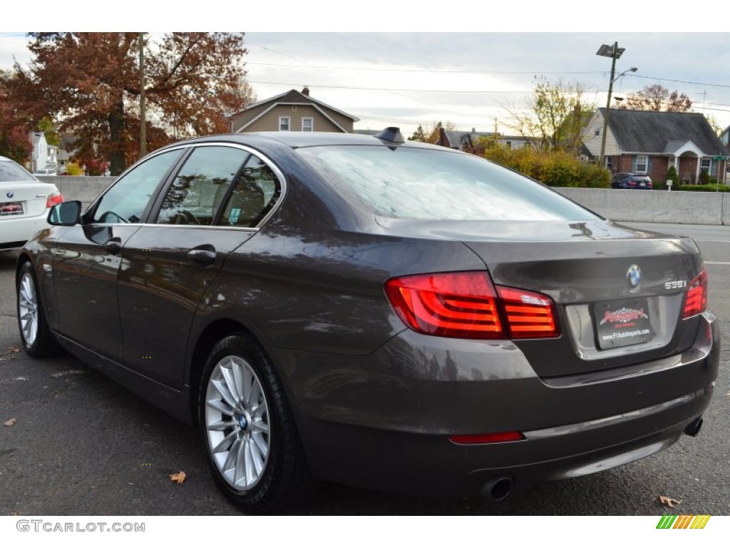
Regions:
[[[309,88],[301,91],[292,89],[252,104],[228,118],[231,122],[231,133],[352,133],[353,123],[360,119],[312,98]]]

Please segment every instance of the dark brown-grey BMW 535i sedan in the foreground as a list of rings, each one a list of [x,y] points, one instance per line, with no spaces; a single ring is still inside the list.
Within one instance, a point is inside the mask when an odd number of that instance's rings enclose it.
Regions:
[[[18,258],[28,354],[196,423],[248,511],[623,465],[695,435],[718,374],[692,240],[393,128],[180,142],[49,220]]]

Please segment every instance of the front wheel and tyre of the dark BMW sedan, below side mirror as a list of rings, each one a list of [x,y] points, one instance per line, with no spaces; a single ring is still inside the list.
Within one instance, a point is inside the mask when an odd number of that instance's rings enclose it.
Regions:
[[[30,262],[20,267],[15,289],[18,295],[18,330],[23,348],[35,358],[60,354],[61,346],[48,327],[36,274]]]

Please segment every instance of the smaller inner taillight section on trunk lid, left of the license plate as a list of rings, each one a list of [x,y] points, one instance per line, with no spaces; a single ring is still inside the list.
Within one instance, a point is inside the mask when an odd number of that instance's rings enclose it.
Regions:
[[[497,286],[504,305],[510,338],[557,337],[555,305],[550,297],[512,287]]]

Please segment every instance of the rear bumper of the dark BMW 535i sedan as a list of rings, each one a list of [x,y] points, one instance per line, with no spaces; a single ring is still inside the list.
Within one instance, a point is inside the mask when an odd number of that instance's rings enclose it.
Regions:
[[[368,357],[271,350],[315,476],[410,495],[476,495],[613,468],[675,443],[710,403],[714,315],[677,356],[603,375],[538,378],[509,341],[402,332]],[[462,445],[455,434],[519,431]]]

